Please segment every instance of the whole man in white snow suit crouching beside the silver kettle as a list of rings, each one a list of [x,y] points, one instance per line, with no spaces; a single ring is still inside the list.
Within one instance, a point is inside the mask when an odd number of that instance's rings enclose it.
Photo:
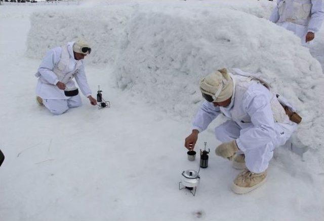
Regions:
[[[198,133],[218,115],[225,115],[229,120],[215,128],[216,139],[223,142],[215,152],[233,160],[234,168],[245,169],[231,187],[242,194],[265,182],[273,149],[286,143],[297,124],[288,117],[294,107],[285,99],[280,100],[281,104],[266,82],[239,69],[234,71],[235,75],[222,69],[200,81],[206,100],[193,120],[185,147],[193,149]]]

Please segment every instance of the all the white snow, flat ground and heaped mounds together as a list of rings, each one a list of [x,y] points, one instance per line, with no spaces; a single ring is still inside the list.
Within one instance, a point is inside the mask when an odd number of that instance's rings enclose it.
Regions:
[[[311,46],[266,20],[268,1],[83,1],[0,7],[0,220],[321,220],[324,217],[324,31]],[[77,36],[86,73],[110,109],[52,116],[34,101],[47,49]],[[318,63],[316,59],[320,62]],[[268,182],[235,195],[238,171],[213,154],[195,197],[178,190],[184,138],[202,100],[197,82],[221,67],[257,72],[303,116],[301,158],[278,148]],[[221,119],[222,120],[222,119]]]

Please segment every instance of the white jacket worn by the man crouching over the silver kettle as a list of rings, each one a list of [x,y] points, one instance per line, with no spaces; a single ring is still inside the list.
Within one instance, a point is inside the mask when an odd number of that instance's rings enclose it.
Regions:
[[[242,130],[236,143],[240,149],[251,146],[251,142],[276,142],[275,123],[286,124],[290,120],[284,108],[272,93],[256,80],[240,75],[231,75],[234,92],[227,107],[215,107],[204,101],[192,122],[192,129],[204,131],[219,115],[224,114]],[[289,104],[290,105],[290,104]]]

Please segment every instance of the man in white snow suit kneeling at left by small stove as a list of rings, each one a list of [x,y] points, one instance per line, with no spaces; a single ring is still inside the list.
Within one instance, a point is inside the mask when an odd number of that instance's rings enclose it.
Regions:
[[[97,100],[91,96],[83,64],[83,59],[90,52],[89,44],[83,40],[49,50],[35,74],[38,77],[37,102],[45,105],[54,115],[82,105],[79,94],[71,97],[64,94],[65,89],[75,87],[74,77],[82,93],[92,105],[96,105]]]

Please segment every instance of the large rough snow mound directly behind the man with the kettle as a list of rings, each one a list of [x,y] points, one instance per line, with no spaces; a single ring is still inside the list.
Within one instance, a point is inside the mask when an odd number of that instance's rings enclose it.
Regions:
[[[223,67],[240,68],[261,74],[296,105],[302,141],[321,143],[322,70],[292,32],[237,10],[152,7],[133,15],[121,39],[116,76],[127,93],[191,117],[203,99],[199,79]]]

